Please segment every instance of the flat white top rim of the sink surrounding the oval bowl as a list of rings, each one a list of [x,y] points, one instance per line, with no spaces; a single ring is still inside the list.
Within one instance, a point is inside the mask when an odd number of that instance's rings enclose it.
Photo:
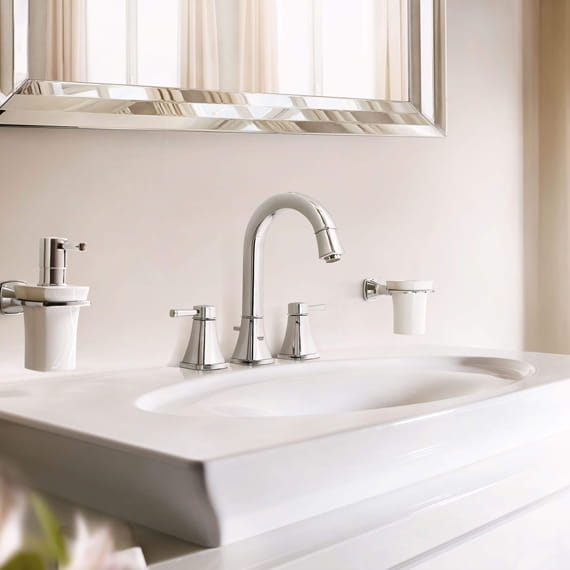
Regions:
[[[258,377],[266,374],[268,367],[233,366],[229,370],[210,373],[174,365],[102,369],[49,375],[48,378],[42,376],[36,380],[25,379],[22,383],[17,381],[16,384],[26,386],[30,394],[23,398],[10,398],[9,401],[0,400],[0,420],[15,421],[33,429],[48,430],[135,454],[156,455],[165,461],[183,459],[190,464],[209,464],[340,434],[391,430],[398,424],[419,425],[434,416],[479,413],[478,410],[503,405],[506,400],[509,407],[512,402],[516,408],[518,402],[527,398],[529,389],[533,390],[532,398],[540,398],[543,389],[550,390],[553,384],[558,385],[562,381],[570,385],[570,355],[434,345],[347,348],[335,350],[328,356],[326,352],[322,354],[320,362],[283,361],[270,368],[277,370],[326,363],[337,365],[339,361],[346,360],[402,357],[482,357],[522,360],[536,373],[490,398],[463,398],[358,414],[331,414],[330,419],[323,422],[322,416],[176,416],[148,412],[135,406],[142,396],[160,388],[177,386],[180,389],[185,384],[208,386],[212,382],[233,382],[238,375]]]

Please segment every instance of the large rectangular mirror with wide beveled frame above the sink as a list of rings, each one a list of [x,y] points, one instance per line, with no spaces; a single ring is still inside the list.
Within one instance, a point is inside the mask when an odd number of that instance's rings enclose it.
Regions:
[[[0,0],[0,125],[441,136],[445,0]]]

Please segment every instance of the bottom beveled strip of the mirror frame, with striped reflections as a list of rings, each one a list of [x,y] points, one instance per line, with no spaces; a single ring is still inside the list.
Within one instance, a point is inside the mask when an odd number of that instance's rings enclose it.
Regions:
[[[28,80],[0,126],[440,137],[408,101]]]

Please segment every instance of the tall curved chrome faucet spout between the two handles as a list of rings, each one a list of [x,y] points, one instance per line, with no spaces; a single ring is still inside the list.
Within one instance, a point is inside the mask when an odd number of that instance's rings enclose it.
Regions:
[[[242,317],[232,356],[236,364],[273,362],[263,328],[263,246],[273,218],[284,209],[296,210],[309,220],[315,231],[320,259],[333,263],[344,253],[331,215],[313,198],[295,192],[276,194],[255,210],[243,244]]]

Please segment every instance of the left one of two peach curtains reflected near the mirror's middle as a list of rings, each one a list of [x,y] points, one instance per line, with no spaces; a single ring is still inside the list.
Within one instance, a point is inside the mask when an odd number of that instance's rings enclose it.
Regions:
[[[220,88],[215,0],[181,0],[182,87]]]

